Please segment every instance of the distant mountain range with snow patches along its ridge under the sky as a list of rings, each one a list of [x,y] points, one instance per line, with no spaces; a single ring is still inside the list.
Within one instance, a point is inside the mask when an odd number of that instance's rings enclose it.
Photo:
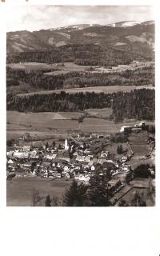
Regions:
[[[79,24],[39,31],[16,31],[6,34],[7,54],[51,50],[66,45],[94,44],[154,50],[154,21],[125,21],[107,24]],[[136,48],[137,47],[137,48]]]

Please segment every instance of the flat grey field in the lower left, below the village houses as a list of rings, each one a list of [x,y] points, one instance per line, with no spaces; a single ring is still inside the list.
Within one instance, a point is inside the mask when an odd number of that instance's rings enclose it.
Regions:
[[[70,182],[62,179],[49,178],[13,178],[6,181],[6,205],[7,206],[31,206],[33,190],[38,190],[41,197],[50,194],[61,196],[65,193]]]

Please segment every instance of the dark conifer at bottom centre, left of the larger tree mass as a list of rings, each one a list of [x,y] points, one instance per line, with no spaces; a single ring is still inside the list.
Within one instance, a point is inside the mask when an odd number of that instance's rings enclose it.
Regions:
[[[85,206],[87,186],[84,184],[78,185],[78,182],[73,180],[69,190],[66,190],[64,195],[65,206]]]

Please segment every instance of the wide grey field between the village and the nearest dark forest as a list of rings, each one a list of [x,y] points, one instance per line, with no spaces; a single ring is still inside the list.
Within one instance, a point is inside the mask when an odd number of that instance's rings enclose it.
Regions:
[[[93,110],[91,110],[93,111]],[[110,110],[97,110],[96,113],[109,114]],[[93,112],[92,112],[93,113]],[[18,138],[26,132],[30,134],[50,135],[57,133],[78,132],[106,132],[106,134],[118,133],[122,126],[134,126],[134,120],[114,123],[103,118],[85,118],[79,123],[73,118],[81,116],[81,112],[40,112],[20,113],[18,111],[7,111],[7,139]],[[147,122],[146,122],[147,123]]]

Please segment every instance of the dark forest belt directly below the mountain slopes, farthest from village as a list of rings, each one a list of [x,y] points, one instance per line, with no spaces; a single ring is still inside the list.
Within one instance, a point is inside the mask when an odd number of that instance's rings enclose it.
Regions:
[[[137,49],[137,48],[136,48]],[[36,50],[9,54],[7,63],[18,62],[74,62],[78,65],[86,66],[117,66],[118,64],[129,64],[134,59],[151,61],[154,56],[150,50],[146,53],[141,50],[117,49],[114,46],[102,46],[95,44],[70,44],[61,47],[53,47],[51,50]]]

